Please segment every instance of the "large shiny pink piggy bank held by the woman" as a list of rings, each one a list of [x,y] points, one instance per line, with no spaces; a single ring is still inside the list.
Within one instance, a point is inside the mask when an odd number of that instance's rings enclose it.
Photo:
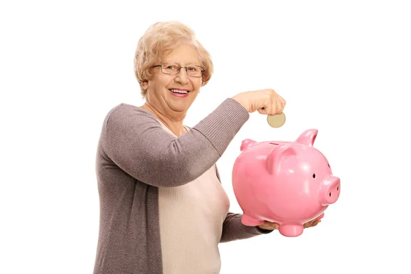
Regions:
[[[299,236],[304,223],[323,218],[337,201],[340,179],[312,146],[317,133],[306,130],[295,142],[242,141],[232,184],[244,225],[271,221],[279,225],[280,234]]]

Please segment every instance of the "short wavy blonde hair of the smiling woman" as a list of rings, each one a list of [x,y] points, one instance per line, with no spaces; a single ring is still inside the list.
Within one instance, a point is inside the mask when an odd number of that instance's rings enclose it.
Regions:
[[[194,46],[199,53],[201,66],[206,69],[203,73],[201,86],[205,86],[210,81],[214,71],[211,56],[197,40],[195,32],[190,27],[177,21],[158,22],[151,25],[140,40],[138,40],[134,55],[134,74],[140,84],[143,98],[147,95],[147,90],[142,88],[142,83],[148,82],[151,78],[151,66],[155,62],[159,62],[166,51],[175,49],[175,47],[179,47],[182,44]]]

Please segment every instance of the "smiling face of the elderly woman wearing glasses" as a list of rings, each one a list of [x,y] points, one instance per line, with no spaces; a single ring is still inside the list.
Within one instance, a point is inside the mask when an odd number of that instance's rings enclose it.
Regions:
[[[188,64],[201,66],[197,49],[191,45],[181,45],[164,55],[162,63]],[[202,78],[188,76],[186,69],[182,68],[177,75],[162,73],[160,67],[154,67],[153,77],[145,82],[143,88],[147,90],[147,103],[163,114],[185,115],[190,105],[195,100],[201,87]],[[186,94],[172,92],[171,90],[187,91]]]

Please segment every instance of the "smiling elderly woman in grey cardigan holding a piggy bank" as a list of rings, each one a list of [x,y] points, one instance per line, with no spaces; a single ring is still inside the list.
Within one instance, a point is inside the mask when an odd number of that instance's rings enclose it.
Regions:
[[[208,51],[181,23],[155,23],[140,38],[135,73],[145,104],[112,108],[97,149],[94,273],[219,273],[220,242],[277,228],[245,226],[229,212],[216,162],[249,113],[279,114],[285,101],[274,90],[240,92],[187,127],[212,71]]]

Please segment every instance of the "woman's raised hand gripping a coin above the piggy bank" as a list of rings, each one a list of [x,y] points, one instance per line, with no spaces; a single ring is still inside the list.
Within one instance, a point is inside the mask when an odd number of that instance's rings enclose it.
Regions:
[[[286,101],[271,89],[241,92],[232,97],[248,112],[258,111],[260,114],[274,115],[283,112]]]

